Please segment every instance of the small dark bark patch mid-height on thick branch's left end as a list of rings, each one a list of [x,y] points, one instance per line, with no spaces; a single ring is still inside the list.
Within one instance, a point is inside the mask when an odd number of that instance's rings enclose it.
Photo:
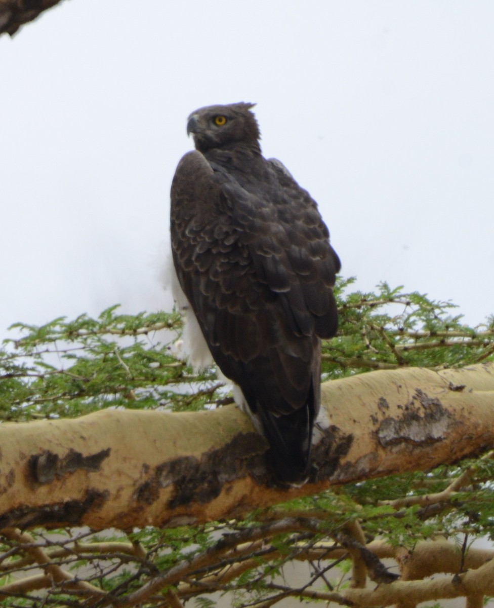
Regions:
[[[96,454],[83,456],[80,452],[70,450],[63,458],[44,450],[29,459],[29,470],[36,483],[52,483],[55,478],[61,479],[76,471],[99,471],[103,460],[109,457],[111,449],[101,450]]]

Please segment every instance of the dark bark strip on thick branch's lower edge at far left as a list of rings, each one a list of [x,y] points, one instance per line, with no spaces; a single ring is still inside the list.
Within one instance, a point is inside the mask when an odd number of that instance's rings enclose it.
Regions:
[[[15,526],[25,529],[32,526],[80,525],[84,514],[100,508],[109,497],[109,492],[89,489],[84,500],[67,500],[39,507],[21,506],[0,516],[0,530]]]

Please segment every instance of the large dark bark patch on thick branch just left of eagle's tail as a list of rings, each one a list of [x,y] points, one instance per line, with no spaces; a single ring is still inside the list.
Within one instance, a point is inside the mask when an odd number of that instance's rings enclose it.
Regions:
[[[266,478],[264,452],[267,443],[262,435],[237,435],[227,445],[202,457],[182,456],[156,467],[153,476],[134,492],[134,499],[151,505],[160,490],[173,486],[168,505],[173,509],[190,502],[207,503],[219,496],[227,482],[252,475]]]

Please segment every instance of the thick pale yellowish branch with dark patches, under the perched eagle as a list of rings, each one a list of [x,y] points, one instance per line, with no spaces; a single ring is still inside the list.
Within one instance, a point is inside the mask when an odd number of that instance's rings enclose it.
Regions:
[[[160,527],[261,506],[494,446],[494,364],[374,371],[323,384],[309,483],[277,488],[266,443],[235,406],[103,410],[0,425],[0,529]]]

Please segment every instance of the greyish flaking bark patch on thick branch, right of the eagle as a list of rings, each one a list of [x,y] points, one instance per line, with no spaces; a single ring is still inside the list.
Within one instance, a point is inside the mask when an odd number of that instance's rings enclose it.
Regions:
[[[383,447],[410,443],[429,445],[447,437],[454,416],[444,408],[437,397],[430,397],[416,389],[412,401],[403,407],[400,418],[385,418],[377,430],[377,438]]]

